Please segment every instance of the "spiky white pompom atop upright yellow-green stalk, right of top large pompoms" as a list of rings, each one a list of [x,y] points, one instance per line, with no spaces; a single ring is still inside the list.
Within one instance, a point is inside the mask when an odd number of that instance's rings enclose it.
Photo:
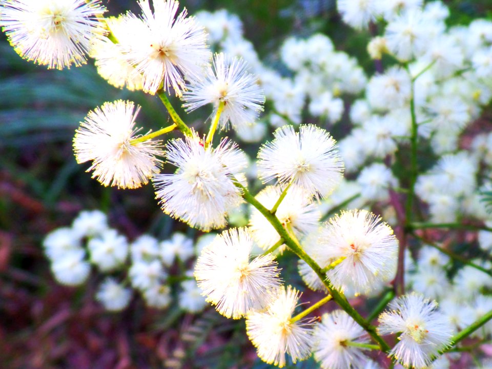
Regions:
[[[230,123],[237,129],[254,123],[263,110],[265,95],[244,60],[219,53],[215,54],[213,69],[209,68],[204,78],[193,81],[183,100],[187,111],[212,104],[213,116],[219,104],[223,104],[220,127],[226,129]]]

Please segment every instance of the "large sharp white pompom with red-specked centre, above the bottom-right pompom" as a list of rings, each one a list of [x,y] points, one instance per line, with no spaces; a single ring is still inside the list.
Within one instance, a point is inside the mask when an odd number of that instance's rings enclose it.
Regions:
[[[398,240],[388,224],[365,210],[342,212],[321,231],[321,268],[344,257],[326,273],[337,288],[351,285],[356,292],[369,292],[391,280],[396,272]]]

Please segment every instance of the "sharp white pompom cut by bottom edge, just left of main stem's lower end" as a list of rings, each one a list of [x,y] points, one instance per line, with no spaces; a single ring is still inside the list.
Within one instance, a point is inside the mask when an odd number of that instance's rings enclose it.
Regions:
[[[343,310],[324,314],[316,325],[314,357],[322,369],[362,368],[368,361],[363,348],[351,346],[369,343],[364,329]]]

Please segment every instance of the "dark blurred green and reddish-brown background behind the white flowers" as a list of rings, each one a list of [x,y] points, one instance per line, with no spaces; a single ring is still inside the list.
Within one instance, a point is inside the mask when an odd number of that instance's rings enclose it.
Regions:
[[[237,13],[245,38],[269,65],[282,68],[275,51],[286,37],[323,32],[368,73],[374,71],[365,51],[371,35],[342,24],[334,0],[181,3],[191,14],[221,8]],[[445,3],[450,25],[492,17],[492,0]],[[138,12],[132,0],[110,0],[107,7],[111,15]],[[84,172],[87,164],[76,164],[72,139],[79,121],[115,99],[140,105],[138,121],[146,129],[169,121],[158,98],[109,86],[91,60],[80,68],[46,70],[21,59],[0,35],[0,367],[270,367],[256,357],[243,320],[227,320],[213,309],[200,316],[172,308],[152,311],[138,299],[124,313],[109,314],[93,301],[95,280],[80,289],[54,282],[40,242],[52,229],[69,225],[82,209],[107,212],[111,226],[130,239],[145,232],[164,239],[175,230],[196,235],[162,214],[152,186],[104,188]],[[174,100],[174,106],[179,102]],[[198,127],[199,118],[191,116],[197,119],[191,125]],[[284,273],[297,275],[294,258],[283,265],[290,265]],[[308,360],[295,367],[316,364]]]

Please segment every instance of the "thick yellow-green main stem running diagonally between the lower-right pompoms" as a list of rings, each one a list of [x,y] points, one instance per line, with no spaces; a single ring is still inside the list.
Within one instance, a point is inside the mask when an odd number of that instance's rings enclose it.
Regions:
[[[239,182],[235,182],[235,185],[241,189],[243,193],[243,198],[252,206],[254,206],[267,220],[272,224],[272,227],[277,231],[280,237],[284,239],[284,243],[288,245],[289,249],[296,254],[300,259],[304,260],[306,264],[316,273],[316,275],[321,279],[326,289],[332,295],[333,300],[343,309],[348,315],[350,315],[366,332],[370,335],[374,341],[379,344],[381,351],[389,353],[391,350],[388,344],[379,336],[376,332],[376,327],[368,323],[347,301],[346,297],[342,292],[336,290],[330,281],[326,280],[326,276],[321,272],[321,267],[314,261],[311,256],[305,253],[301,245],[290,235],[290,233],[285,230],[282,226],[280,220],[270,213],[270,210],[265,208],[261,202],[259,202],[247,188],[241,185]]]

